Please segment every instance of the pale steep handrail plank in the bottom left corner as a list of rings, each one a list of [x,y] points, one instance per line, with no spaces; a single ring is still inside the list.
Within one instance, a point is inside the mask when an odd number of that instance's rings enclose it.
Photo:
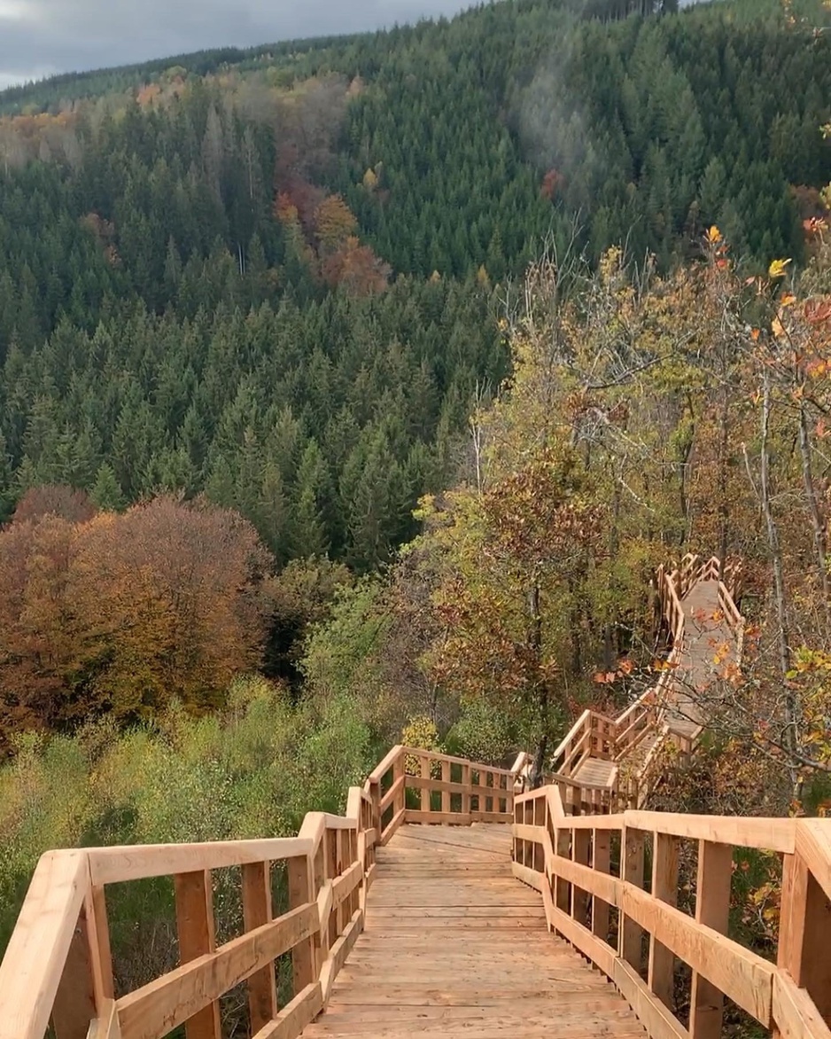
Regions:
[[[47,852],[0,965],[0,1037],[43,1039],[89,885],[85,852]]]

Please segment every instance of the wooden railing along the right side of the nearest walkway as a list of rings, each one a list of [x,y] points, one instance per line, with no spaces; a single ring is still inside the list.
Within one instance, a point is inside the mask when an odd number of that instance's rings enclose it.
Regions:
[[[549,930],[607,975],[652,1039],[716,1039],[725,997],[785,1039],[831,1039],[831,820],[578,818],[552,785],[516,797],[512,834],[514,876],[540,891]],[[691,911],[677,906],[685,844],[697,853]],[[776,963],[728,935],[735,848],[782,857]],[[676,959],[692,970],[686,1020]]]

